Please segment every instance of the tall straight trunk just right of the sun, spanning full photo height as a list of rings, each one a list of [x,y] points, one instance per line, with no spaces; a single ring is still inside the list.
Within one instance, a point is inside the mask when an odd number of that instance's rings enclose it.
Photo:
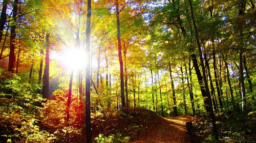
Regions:
[[[92,14],[92,5],[91,0],[87,1],[87,20],[86,20],[86,51],[87,59],[90,61],[90,37],[91,37],[91,14]],[[91,63],[86,64],[86,142],[92,142],[92,127],[91,127],[91,90],[90,90],[90,68]]]

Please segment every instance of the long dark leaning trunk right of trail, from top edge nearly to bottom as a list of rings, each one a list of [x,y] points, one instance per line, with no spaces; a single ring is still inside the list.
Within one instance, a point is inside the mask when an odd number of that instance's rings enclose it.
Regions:
[[[206,78],[206,72],[205,72],[205,68],[204,68],[203,56],[202,56],[202,51],[201,51],[201,44],[200,44],[200,41],[199,41],[199,36],[198,36],[198,31],[197,31],[195,18],[194,18],[194,12],[193,12],[193,6],[192,6],[192,3],[191,3],[191,0],[189,0],[189,6],[190,6],[190,12],[191,12],[191,19],[192,19],[193,25],[194,25],[195,36],[196,36],[196,39],[197,39],[197,46],[198,46],[198,51],[199,51],[200,63],[201,63],[202,72],[203,72],[203,80],[204,80],[204,85],[203,86],[205,87],[204,90],[206,92],[205,97],[207,97],[206,100],[208,100],[208,104],[206,104],[206,106],[208,108],[207,113],[211,117],[214,136],[215,136],[216,140],[219,140],[217,125],[216,125],[216,119],[215,119],[214,110],[212,109],[211,97],[210,97],[208,82],[207,82],[207,78]],[[195,58],[194,58],[194,60],[195,60]]]

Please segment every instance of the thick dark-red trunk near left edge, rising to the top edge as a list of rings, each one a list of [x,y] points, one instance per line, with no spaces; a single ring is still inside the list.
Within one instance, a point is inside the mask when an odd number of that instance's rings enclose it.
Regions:
[[[10,53],[9,53],[9,65],[8,71],[14,72],[14,62],[15,62],[15,40],[16,40],[16,20],[17,20],[17,11],[18,11],[18,0],[14,0],[13,3],[13,24],[11,25],[11,40],[10,40]]]

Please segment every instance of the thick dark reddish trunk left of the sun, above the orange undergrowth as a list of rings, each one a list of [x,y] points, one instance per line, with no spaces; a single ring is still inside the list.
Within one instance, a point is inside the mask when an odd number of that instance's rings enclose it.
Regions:
[[[50,68],[50,34],[46,34],[46,65],[44,76],[42,77],[42,97],[48,99],[49,98],[49,68]]]

